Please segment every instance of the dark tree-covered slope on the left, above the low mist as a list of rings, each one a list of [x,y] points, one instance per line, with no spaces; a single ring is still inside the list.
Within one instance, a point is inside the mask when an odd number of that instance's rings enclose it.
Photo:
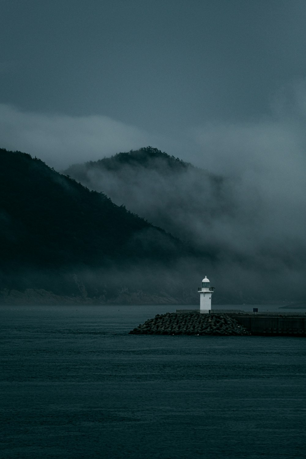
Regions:
[[[105,266],[165,262],[184,251],[162,229],[20,151],[0,150],[3,266]]]

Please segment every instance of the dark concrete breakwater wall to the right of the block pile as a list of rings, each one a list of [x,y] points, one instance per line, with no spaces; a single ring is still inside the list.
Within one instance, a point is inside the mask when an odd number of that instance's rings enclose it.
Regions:
[[[258,336],[306,336],[306,317],[228,314]]]

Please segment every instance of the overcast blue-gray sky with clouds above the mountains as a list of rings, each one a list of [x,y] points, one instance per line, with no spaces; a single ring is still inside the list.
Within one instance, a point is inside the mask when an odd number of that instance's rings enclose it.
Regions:
[[[151,145],[216,172],[305,151],[305,1],[2,0],[0,23],[7,149],[61,168]]]

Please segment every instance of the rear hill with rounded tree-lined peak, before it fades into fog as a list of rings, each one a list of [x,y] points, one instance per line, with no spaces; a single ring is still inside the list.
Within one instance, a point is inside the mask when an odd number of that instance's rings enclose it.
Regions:
[[[228,212],[231,190],[224,177],[150,146],[74,164],[63,173],[197,246],[208,225]],[[205,243],[209,250],[211,242]]]

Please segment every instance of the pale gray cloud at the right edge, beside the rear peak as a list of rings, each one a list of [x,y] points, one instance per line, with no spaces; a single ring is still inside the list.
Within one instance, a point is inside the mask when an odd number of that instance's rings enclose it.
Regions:
[[[258,223],[280,243],[305,241],[306,98],[305,85],[294,86],[277,101],[269,118],[253,123],[215,123],[193,130],[209,170],[235,180],[242,207],[260,205]],[[276,104],[274,104],[274,107]]]

